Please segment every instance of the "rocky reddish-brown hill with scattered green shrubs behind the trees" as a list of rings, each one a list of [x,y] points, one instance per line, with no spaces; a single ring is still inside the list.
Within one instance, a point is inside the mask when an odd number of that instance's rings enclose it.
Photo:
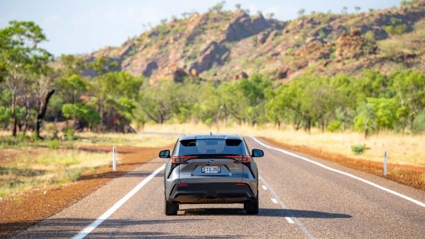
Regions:
[[[151,82],[186,76],[235,80],[252,73],[288,81],[302,73],[356,75],[364,68],[424,72],[425,1],[359,14],[312,13],[293,21],[211,10],[175,18],[86,57],[101,56]]]

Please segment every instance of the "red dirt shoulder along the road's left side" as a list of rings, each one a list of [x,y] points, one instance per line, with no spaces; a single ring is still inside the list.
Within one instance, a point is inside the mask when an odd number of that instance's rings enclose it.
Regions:
[[[110,151],[111,147],[86,146],[79,149]],[[160,149],[162,148],[117,147],[117,151],[122,153],[119,172],[113,173],[110,171],[110,166],[101,166],[95,171],[83,173],[80,179],[69,184],[30,190],[0,201],[0,238],[12,236],[60,212],[90,192],[104,186],[110,179],[119,177],[141,166],[143,162],[155,158]]]

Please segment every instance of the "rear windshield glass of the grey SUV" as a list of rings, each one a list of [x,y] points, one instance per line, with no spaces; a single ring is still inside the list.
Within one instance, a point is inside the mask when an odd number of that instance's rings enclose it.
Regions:
[[[193,139],[180,140],[178,155],[245,155],[242,140],[238,139]]]

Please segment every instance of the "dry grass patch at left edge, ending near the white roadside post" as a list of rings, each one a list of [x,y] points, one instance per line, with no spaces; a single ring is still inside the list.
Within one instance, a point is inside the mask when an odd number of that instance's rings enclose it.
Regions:
[[[77,149],[12,149],[14,158],[0,151],[0,197],[16,192],[75,181],[81,173],[108,164],[106,152]]]

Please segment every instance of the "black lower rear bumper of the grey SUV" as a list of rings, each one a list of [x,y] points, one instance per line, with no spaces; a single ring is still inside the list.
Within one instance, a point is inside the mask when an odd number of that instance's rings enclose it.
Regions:
[[[243,203],[255,199],[255,194],[248,184],[235,183],[187,184],[171,190],[167,201],[177,203]]]

